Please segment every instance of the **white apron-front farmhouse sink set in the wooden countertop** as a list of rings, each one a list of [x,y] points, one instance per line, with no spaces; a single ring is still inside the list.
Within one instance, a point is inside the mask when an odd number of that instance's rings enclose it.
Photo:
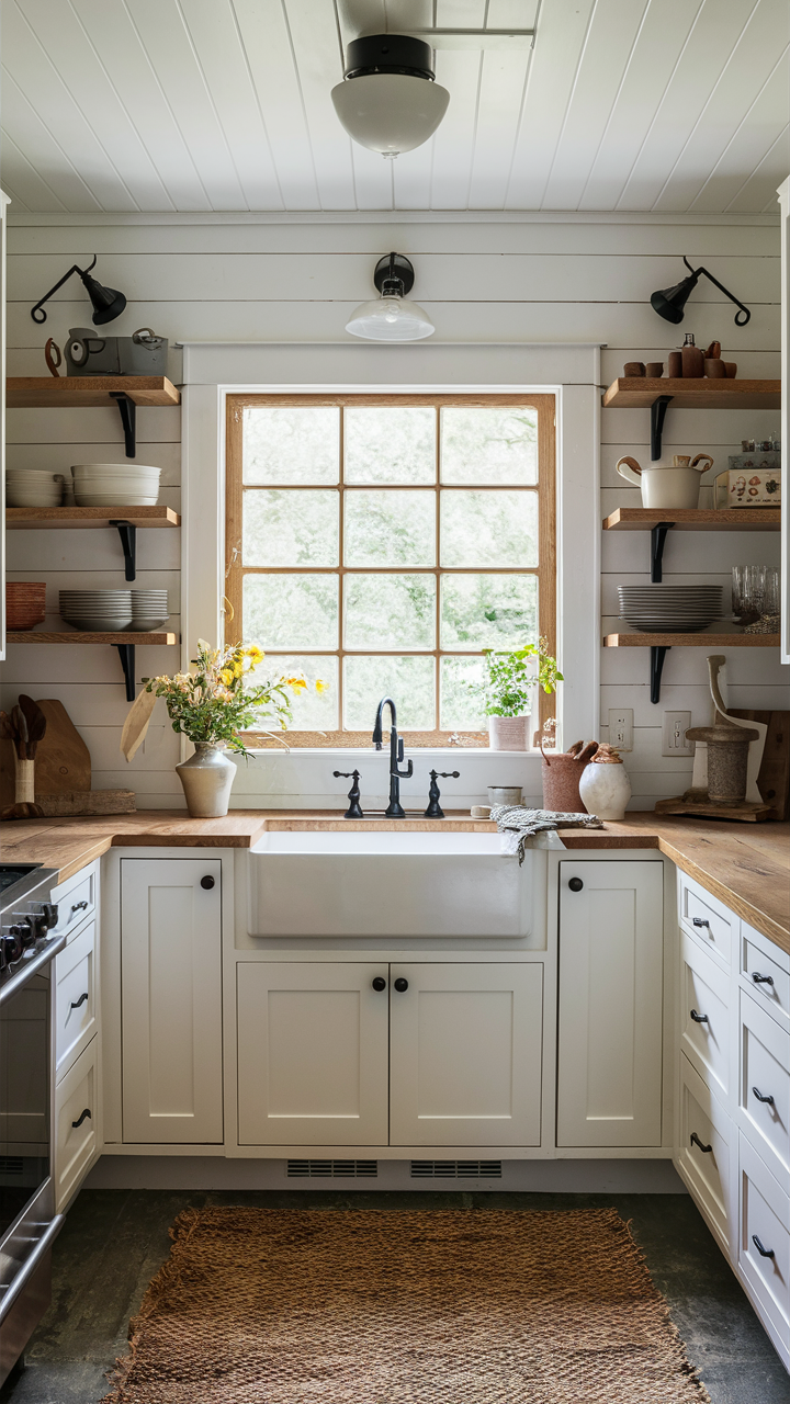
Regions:
[[[249,935],[523,936],[531,872],[499,834],[268,831],[249,855]]]

